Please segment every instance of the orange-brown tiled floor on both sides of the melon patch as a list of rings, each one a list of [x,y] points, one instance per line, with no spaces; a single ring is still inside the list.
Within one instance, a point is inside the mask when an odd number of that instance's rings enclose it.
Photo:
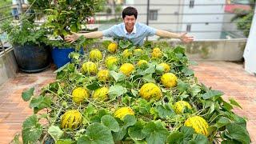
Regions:
[[[198,62],[192,68],[199,82],[222,90],[225,99],[234,98],[242,105],[242,110],[234,112],[248,118],[247,130],[252,143],[256,143],[256,77],[247,74],[242,64],[233,62]],[[54,82],[53,71],[18,73],[16,78],[0,86],[0,143],[9,143],[15,134],[21,133],[22,122],[32,114],[28,102],[22,101],[22,90],[34,86],[38,93],[42,86]]]

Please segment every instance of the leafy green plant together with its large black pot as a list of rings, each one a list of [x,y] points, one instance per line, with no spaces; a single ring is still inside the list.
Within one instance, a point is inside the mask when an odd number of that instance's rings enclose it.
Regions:
[[[50,50],[45,42],[46,30],[24,18],[20,22],[4,22],[1,30],[6,31],[19,70],[39,72],[50,66]]]

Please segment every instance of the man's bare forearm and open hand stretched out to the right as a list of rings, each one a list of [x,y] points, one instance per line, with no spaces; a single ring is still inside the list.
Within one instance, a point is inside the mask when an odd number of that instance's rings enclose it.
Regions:
[[[171,33],[166,30],[157,30],[156,35],[164,38],[178,38],[182,40],[182,42],[192,42],[194,40],[194,37],[187,35],[186,33],[177,34],[177,33]]]

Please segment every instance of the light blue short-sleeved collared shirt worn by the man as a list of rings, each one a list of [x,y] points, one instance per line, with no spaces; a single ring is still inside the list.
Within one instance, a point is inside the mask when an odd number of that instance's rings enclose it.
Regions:
[[[156,29],[150,26],[146,26],[143,23],[136,22],[134,25],[134,30],[129,34],[126,30],[125,24],[122,22],[118,25],[114,25],[107,30],[103,30],[104,37],[113,38],[124,38],[130,40],[134,45],[142,46],[144,38],[147,36],[153,36],[156,34]]]

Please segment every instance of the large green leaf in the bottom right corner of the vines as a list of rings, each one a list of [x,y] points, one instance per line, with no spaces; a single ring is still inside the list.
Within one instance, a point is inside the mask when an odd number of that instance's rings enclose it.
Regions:
[[[225,135],[228,138],[237,140],[238,142],[242,142],[244,144],[250,143],[250,136],[246,130],[246,127],[235,123],[230,123],[226,125],[226,130],[227,131],[225,131]]]

